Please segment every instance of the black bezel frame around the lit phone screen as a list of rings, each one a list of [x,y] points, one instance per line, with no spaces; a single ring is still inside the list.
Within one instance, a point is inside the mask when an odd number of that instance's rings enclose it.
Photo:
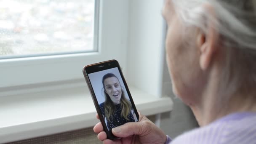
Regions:
[[[85,66],[83,68],[83,75],[85,77],[85,81],[86,81],[86,83],[88,85],[88,88],[90,90],[91,96],[93,98],[93,103],[94,103],[94,105],[96,107],[97,113],[99,114],[99,118],[100,118],[101,124],[103,125],[104,131],[107,133],[107,138],[108,139],[117,139],[117,137],[112,134],[112,131],[108,131],[108,129],[107,129],[107,125],[105,123],[104,117],[101,114],[101,110],[99,108],[99,103],[98,103],[96,95],[95,95],[95,93],[93,91],[93,87],[91,85],[91,81],[90,81],[90,79],[88,77],[88,74],[91,74],[91,73],[94,73],[94,72],[99,72],[99,71],[106,70],[106,69],[115,68],[115,67],[117,67],[118,71],[120,72],[120,75],[121,75],[121,78],[123,80],[125,89],[126,89],[126,91],[128,93],[129,99],[131,101],[133,110],[134,110],[134,112],[136,114],[137,119],[139,120],[139,114],[138,114],[137,109],[135,107],[135,104],[133,102],[131,93],[130,93],[130,91],[128,89],[128,85],[127,85],[127,83],[125,81],[125,78],[123,76],[123,72],[122,72],[122,70],[120,68],[120,65],[119,65],[118,61],[116,61],[116,60],[103,61],[103,62],[96,63],[96,64],[90,64],[90,65]]]

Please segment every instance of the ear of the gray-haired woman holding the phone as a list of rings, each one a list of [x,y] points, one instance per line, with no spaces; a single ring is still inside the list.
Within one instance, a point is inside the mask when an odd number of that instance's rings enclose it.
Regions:
[[[206,70],[210,67],[215,57],[214,54],[218,50],[219,33],[216,30],[216,15],[213,8],[209,5],[203,5],[203,10],[209,15],[205,23],[206,32],[198,31],[196,43],[200,51],[200,67]]]

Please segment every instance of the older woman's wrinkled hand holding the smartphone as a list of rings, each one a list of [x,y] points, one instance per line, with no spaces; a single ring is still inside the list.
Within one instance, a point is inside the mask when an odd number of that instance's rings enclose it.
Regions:
[[[99,119],[98,115],[96,117]],[[167,139],[160,128],[140,113],[139,122],[125,123],[112,129],[112,133],[121,139],[107,139],[101,123],[97,123],[93,131],[98,133],[98,139],[104,144],[164,144]]]

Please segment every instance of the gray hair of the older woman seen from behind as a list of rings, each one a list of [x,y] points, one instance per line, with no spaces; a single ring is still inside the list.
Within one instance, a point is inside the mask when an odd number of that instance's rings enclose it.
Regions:
[[[224,95],[256,84],[256,0],[171,0],[186,26],[207,34],[211,22],[227,47],[226,67],[220,90]],[[203,5],[215,11],[209,14]]]

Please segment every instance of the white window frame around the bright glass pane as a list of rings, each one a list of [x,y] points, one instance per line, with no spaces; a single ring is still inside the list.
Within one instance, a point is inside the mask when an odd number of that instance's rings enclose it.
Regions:
[[[126,64],[128,1],[98,0],[98,51],[0,60],[0,88],[81,80],[85,65],[117,59]],[[96,10],[97,12],[97,10]],[[95,13],[97,14],[97,13]],[[98,23],[98,24],[97,24]],[[120,54],[121,53],[121,54]]]

